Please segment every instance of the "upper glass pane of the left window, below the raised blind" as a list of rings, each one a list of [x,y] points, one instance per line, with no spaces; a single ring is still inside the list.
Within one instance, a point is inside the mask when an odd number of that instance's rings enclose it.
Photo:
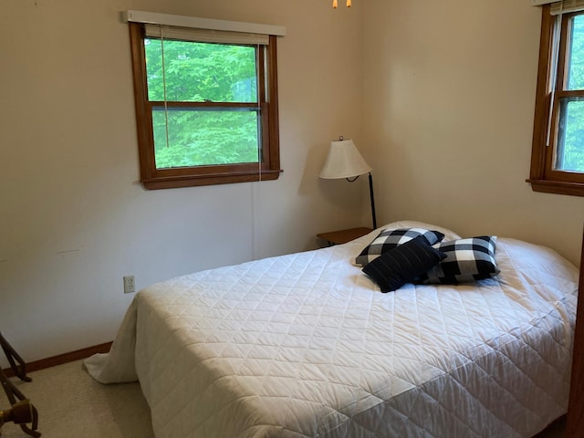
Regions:
[[[144,47],[151,101],[164,100],[164,84],[167,101],[257,101],[255,47],[156,38]]]

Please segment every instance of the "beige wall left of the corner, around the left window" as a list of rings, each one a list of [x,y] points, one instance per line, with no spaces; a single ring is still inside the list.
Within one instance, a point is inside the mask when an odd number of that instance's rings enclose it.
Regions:
[[[315,248],[359,224],[360,190],[318,180],[361,125],[360,9],[313,0],[5,0],[0,7],[0,330],[26,360],[113,339],[171,276]],[[145,191],[128,26],[136,9],[287,27],[276,182]],[[338,182],[336,182],[338,183]],[[342,183],[342,182],[341,182]],[[0,364],[5,362],[0,362]]]

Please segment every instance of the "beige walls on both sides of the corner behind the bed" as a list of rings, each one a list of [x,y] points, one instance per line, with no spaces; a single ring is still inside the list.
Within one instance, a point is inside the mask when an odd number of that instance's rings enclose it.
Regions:
[[[339,135],[373,165],[380,224],[514,236],[578,260],[582,198],[525,183],[538,9],[529,0],[353,3],[2,2],[0,329],[26,360],[113,339],[132,297],[124,275],[145,287],[369,224],[366,180],[318,180]],[[278,181],[141,188],[126,9],[287,27]]]

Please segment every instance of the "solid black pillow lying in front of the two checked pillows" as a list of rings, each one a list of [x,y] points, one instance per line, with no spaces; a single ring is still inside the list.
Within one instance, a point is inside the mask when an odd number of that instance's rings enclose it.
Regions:
[[[389,292],[419,278],[445,256],[419,235],[380,255],[362,271],[381,287],[381,292]]]

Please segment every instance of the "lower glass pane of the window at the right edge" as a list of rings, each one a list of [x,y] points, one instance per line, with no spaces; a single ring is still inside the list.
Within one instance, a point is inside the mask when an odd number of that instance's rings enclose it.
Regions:
[[[584,172],[584,98],[560,101],[556,170]]]

